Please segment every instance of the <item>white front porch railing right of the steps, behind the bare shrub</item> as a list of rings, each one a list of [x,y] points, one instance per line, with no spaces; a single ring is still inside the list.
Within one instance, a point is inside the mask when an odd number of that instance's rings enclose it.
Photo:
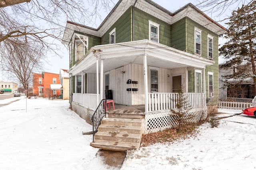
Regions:
[[[177,108],[178,93],[148,93],[148,111],[161,111]],[[184,107],[206,106],[206,95],[203,93],[183,93]]]

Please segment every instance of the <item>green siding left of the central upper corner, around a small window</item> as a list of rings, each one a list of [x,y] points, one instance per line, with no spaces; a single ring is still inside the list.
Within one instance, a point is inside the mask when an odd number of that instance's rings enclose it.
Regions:
[[[124,14],[106,31],[101,38],[101,44],[109,44],[109,33],[116,28],[116,43],[132,41],[132,9],[129,8]]]

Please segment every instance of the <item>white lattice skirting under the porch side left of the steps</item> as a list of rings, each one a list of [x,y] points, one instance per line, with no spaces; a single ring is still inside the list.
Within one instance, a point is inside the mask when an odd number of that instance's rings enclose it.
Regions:
[[[88,124],[92,125],[92,115],[94,113],[93,109],[86,108],[75,102],[71,103],[72,110],[76,112],[82,119],[84,119]]]

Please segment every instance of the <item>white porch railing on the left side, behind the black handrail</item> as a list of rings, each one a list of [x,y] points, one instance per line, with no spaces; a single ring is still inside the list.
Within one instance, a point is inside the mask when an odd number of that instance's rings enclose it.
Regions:
[[[100,95],[99,95],[100,98]],[[82,106],[86,106],[92,109],[97,108],[97,94],[81,94],[81,93],[73,93],[72,102],[80,104]]]

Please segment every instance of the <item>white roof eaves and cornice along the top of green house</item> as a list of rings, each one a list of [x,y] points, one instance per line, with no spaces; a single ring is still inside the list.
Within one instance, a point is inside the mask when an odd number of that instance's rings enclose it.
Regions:
[[[166,23],[169,23],[170,25],[184,17],[188,17],[218,35],[222,35],[227,32],[227,29],[216,21],[212,20],[191,3],[172,13],[162,6],[159,6],[152,0],[119,0],[116,6],[114,6],[114,8],[97,29],[72,21],[67,21],[62,43],[68,45],[74,31],[102,37],[102,35],[104,35],[104,33],[106,33],[106,31],[108,31],[108,29],[110,29],[110,27],[120,18],[120,16],[122,16],[122,14],[124,14],[124,12],[126,12],[126,10],[128,10],[128,8],[131,6],[138,8]]]

